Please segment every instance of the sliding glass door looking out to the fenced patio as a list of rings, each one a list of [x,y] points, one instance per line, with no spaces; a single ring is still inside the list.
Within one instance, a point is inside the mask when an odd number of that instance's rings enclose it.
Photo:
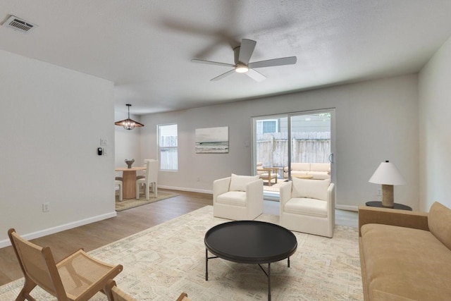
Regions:
[[[333,176],[334,113],[327,109],[253,118],[254,172],[262,173],[262,166],[265,174],[277,173],[277,180],[262,176],[266,198],[278,199],[280,183],[292,178],[292,167],[326,169],[329,164]]]

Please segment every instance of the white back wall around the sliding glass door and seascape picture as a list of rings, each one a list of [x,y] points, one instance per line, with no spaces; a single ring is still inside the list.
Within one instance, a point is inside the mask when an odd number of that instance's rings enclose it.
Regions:
[[[381,161],[395,163],[407,185],[395,202],[419,209],[418,78],[404,75],[283,96],[142,116],[142,157],[157,157],[156,125],[178,123],[179,171],[160,172],[159,186],[211,192],[213,180],[252,174],[252,116],[336,108],[335,166],[339,207],[380,199],[369,178]],[[228,154],[195,154],[194,130],[229,127]],[[199,178],[199,181],[197,181]]]

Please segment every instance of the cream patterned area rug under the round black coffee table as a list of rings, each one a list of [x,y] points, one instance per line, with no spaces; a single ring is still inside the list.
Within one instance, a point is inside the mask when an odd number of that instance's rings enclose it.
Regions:
[[[259,221],[278,223],[263,214]],[[205,281],[204,235],[228,220],[213,217],[206,206],[128,238],[89,252],[112,264],[123,264],[118,286],[137,300],[176,300],[185,292],[199,300],[268,300],[267,278],[258,265],[209,260]],[[271,264],[272,300],[363,300],[356,228],[337,226],[333,238],[295,233],[297,251]],[[0,287],[0,300],[14,300],[23,279]],[[40,288],[37,300],[55,300]],[[97,293],[92,300],[106,300]]]

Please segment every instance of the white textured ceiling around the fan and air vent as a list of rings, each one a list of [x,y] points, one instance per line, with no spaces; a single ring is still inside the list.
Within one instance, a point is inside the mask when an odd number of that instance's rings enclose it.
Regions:
[[[451,36],[449,0],[0,0],[38,25],[0,27],[0,49],[115,84],[115,108],[143,114],[188,109],[416,73]],[[297,56],[259,68],[254,82],[230,68],[242,38],[251,61]]]

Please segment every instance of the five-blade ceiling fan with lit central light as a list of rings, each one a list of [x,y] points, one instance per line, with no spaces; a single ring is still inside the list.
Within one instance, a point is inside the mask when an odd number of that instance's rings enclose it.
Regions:
[[[253,41],[252,39],[242,39],[241,45],[233,49],[233,52],[235,54],[235,64],[221,63],[217,61],[205,61],[199,59],[192,59],[191,61],[193,63],[208,63],[210,65],[228,66],[233,68],[232,70],[229,70],[226,73],[218,75],[216,76],[216,78],[212,78],[211,80],[221,80],[221,78],[225,78],[226,76],[232,74],[235,71],[237,73],[246,73],[249,76],[249,78],[252,78],[257,82],[261,82],[266,78],[266,76],[254,70],[254,68],[292,65],[295,64],[297,61],[296,56],[288,56],[285,58],[270,59],[266,61],[255,61],[249,63],[249,60],[251,59],[252,53],[254,52],[255,49],[255,44],[257,44],[257,42]]]

